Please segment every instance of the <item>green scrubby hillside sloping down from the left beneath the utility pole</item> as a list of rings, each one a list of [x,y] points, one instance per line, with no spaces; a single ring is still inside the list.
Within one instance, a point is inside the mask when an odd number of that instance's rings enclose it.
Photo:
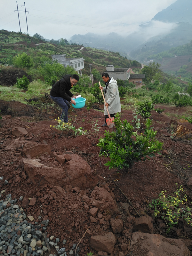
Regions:
[[[117,68],[140,67],[140,63],[127,60],[118,52],[84,47],[81,51],[80,45],[56,45],[44,42],[21,33],[0,30],[0,63],[13,65],[13,58],[22,52],[33,58],[34,67],[37,68],[45,61],[52,60],[52,54],[67,54],[66,57],[84,57],[83,74],[90,74],[89,64],[100,72],[106,70],[107,65]]]

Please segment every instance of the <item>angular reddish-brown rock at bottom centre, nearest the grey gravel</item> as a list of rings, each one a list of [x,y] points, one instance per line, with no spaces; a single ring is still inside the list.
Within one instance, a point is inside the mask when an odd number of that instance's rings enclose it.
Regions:
[[[93,250],[99,252],[112,253],[116,243],[116,238],[112,232],[107,232],[104,236],[91,236],[90,246]]]

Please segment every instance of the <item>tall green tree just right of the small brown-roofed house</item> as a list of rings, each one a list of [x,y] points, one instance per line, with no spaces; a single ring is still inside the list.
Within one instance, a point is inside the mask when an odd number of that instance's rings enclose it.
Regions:
[[[159,69],[161,64],[158,62],[149,63],[148,66],[145,66],[141,69],[142,74],[145,74],[144,82],[149,84],[151,80],[160,80],[161,78],[161,70]]]

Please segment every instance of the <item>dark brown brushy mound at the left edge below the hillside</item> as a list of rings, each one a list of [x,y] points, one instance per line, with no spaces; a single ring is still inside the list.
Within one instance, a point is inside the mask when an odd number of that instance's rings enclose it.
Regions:
[[[17,77],[21,78],[24,75],[27,76],[29,79],[29,82],[32,82],[31,76],[28,76],[28,74],[20,68],[14,68],[14,67],[4,67],[0,65],[0,84],[4,86],[11,86],[13,84],[16,84]]]

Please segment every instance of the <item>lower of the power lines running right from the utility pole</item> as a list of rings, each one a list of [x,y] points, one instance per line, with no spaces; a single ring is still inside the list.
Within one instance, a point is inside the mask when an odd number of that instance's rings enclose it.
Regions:
[[[117,29],[111,29],[111,28],[103,28],[103,27],[92,26],[92,25],[87,25],[87,24],[81,24],[81,23],[76,23],[76,22],[63,21],[63,20],[52,19],[52,18],[42,17],[42,16],[38,16],[38,15],[33,15],[33,14],[29,14],[29,15],[31,15],[33,17],[38,17],[38,18],[41,18],[41,19],[45,19],[45,20],[53,20],[53,21],[57,21],[57,22],[63,22],[63,23],[68,23],[68,24],[73,24],[73,25],[78,25],[78,26],[83,26],[83,27],[99,28],[99,29],[104,29],[104,30],[108,30],[108,31],[112,30],[112,31],[124,32],[124,33],[132,33],[132,34],[137,34],[137,35],[157,36],[157,37],[164,37],[164,38],[171,38],[171,39],[191,41],[191,39],[187,39],[187,38],[178,38],[178,37],[169,37],[169,36],[158,36],[158,35],[153,35],[153,34],[144,34],[144,33],[139,33],[139,32],[125,31],[125,30],[120,30],[120,29],[117,30]]]

